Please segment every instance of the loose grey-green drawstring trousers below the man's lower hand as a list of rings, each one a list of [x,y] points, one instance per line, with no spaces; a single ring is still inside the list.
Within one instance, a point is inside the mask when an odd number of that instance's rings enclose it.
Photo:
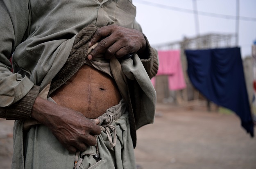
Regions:
[[[105,115],[107,114],[107,115]],[[105,113],[101,119],[102,132],[97,136],[97,147],[89,146],[79,153],[79,169],[135,169],[134,149],[130,136],[128,112],[123,100]],[[20,123],[16,121],[16,123]],[[111,129],[114,127],[114,130]],[[22,131],[18,131],[21,133]],[[33,125],[24,134],[24,159],[14,154],[13,168],[22,169],[73,169],[75,153],[70,154],[44,125]],[[115,145],[113,146],[113,144]],[[96,160],[95,155],[100,159]],[[18,156],[17,156],[18,155]]]

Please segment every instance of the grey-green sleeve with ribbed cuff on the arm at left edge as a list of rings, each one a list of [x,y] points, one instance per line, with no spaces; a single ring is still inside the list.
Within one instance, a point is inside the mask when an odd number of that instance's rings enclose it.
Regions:
[[[34,100],[39,93],[39,87],[34,86],[28,77],[11,72],[12,66],[9,61],[15,48],[23,42],[28,25],[29,2],[27,0],[0,0],[1,118],[24,119],[29,117]]]

